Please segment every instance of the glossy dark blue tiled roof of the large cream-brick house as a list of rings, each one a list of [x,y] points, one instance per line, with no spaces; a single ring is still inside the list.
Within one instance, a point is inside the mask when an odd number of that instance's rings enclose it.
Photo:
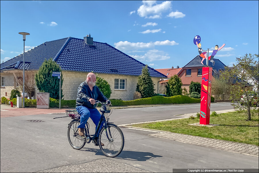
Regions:
[[[93,45],[88,45],[83,39],[73,37],[45,42],[24,54],[25,61],[30,62],[27,67],[29,70],[39,69],[44,60],[49,58],[63,70],[81,72],[138,76],[145,66],[107,43],[93,42]],[[23,54],[1,63],[1,70],[18,61],[23,61]],[[20,66],[17,68],[22,69]],[[116,72],[110,69],[116,69]],[[166,77],[153,68],[148,67],[148,71],[153,77]]]

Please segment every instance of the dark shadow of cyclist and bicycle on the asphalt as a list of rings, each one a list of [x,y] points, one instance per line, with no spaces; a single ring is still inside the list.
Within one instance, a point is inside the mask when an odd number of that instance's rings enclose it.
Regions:
[[[85,148],[83,151],[88,152],[94,152],[95,155],[103,155],[102,151],[100,149],[94,149],[94,148]],[[154,155],[153,153],[149,152],[139,152],[139,151],[122,151],[121,154],[119,154],[117,159],[125,159],[125,160],[135,160],[135,161],[146,161],[149,159],[153,159],[155,157],[163,157],[160,155]]]

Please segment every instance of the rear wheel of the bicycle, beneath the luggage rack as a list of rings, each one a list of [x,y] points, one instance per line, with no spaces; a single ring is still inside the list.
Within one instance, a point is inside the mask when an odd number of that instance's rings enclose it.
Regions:
[[[79,120],[74,120],[70,123],[67,131],[67,137],[69,144],[76,150],[80,150],[85,146],[85,138],[82,138],[78,134],[78,128],[80,121]]]

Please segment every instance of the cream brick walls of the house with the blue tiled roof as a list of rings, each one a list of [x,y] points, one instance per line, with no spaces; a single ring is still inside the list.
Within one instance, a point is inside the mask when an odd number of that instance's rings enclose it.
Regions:
[[[65,100],[75,100],[77,98],[77,89],[78,86],[86,80],[88,72],[71,72],[71,71],[62,71],[63,75],[63,85],[62,90]],[[10,97],[12,89],[14,87],[14,75],[12,73],[1,73],[1,76],[5,76],[5,87],[1,87],[1,97],[5,96],[7,92],[7,97]],[[138,76],[128,76],[128,75],[115,75],[115,74],[98,74],[99,77],[105,79],[111,85],[111,97],[110,99],[122,99],[122,100],[132,100],[134,91],[136,91]],[[118,90],[114,89],[114,79],[126,79],[126,89]],[[157,83],[159,78],[152,77],[152,80],[155,84],[155,93],[157,93]],[[37,86],[35,86],[35,95],[34,98],[37,98]]]

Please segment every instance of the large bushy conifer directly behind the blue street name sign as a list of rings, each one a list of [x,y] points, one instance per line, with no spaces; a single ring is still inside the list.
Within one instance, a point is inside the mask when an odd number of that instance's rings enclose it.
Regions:
[[[49,97],[53,99],[59,99],[59,82],[60,79],[56,76],[52,76],[52,72],[61,72],[59,64],[53,61],[51,58],[42,63],[39,68],[39,72],[35,74],[35,82],[40,92],[49,93]],[[61,99],[62,95],[62,84],[63,77],[61,73]]]

